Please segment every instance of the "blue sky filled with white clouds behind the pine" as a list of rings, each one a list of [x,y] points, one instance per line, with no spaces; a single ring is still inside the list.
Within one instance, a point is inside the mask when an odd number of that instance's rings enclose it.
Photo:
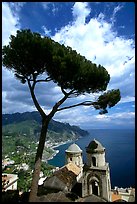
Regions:
[[[135,127],[135,4],[134,2],[3,2],[2,46],[20,29],[31,29],[75,49],[110,74],[107,87],[120,89],[120,102],[105,115],[93,107],[75,107],[57,112],[53,119],[92,128]],[[63,96],[53,82],[36,87],[36,96],[48,113]],[[81,95],[65,105],[96,99]],[[35,111],[27,84],[2,67],[2,113]]]

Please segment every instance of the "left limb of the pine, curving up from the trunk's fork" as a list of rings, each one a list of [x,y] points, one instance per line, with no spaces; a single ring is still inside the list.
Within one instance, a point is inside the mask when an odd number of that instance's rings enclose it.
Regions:
[[[39,103],[38,103],[38,101],[37,101],[37,99],[36,99],[36,96],[35,96],[35,94],[34,94],[34,87],[35,87],[36,82],[34,81],[33,84],[31,85],[30,80],[27,79],[27,81],[28,81],[28,86],[29,86],[29,89],[30,89],[30,93],[31,93],[32,100],[33,100],[33,102],[34,102],[34,104],[35,104],[37,110],[39,111],[41,117],[42,117],[42,118],[45,118],[47,115],[44,113],[44,111],[43,111],[42,108],[40,107],[40,105],[39,105]]]

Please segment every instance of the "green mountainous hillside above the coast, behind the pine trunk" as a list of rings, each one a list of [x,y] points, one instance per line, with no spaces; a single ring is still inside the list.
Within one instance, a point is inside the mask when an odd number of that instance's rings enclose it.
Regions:
[[[2,124],[3,157],[18,150],[20,152],[36,152],[41,131],[41,117],[38,112],[3,114]],[[68,140],[76,140],[87,134],[87,131],[77,126],[51,120],[46,141],[54,145]],[[51,148],[45,147],[45,158],[53,153],[51,150]]]

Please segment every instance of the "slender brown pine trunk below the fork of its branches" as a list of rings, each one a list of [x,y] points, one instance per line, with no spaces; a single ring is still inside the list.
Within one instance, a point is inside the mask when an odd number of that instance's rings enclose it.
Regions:
[[[48,118],[42,121],[42,128],[41,128],[41,134],[40,134],[39,144],[38,144],[36,158],[35,158],[35,167],[34,167],[34,172],[32,177],[29,202],[37,201],[38,181],[39,181],[39,175],[41,170],[41,160],[42,160],[42,154],[44,150],[49,121],[50,119]]]

